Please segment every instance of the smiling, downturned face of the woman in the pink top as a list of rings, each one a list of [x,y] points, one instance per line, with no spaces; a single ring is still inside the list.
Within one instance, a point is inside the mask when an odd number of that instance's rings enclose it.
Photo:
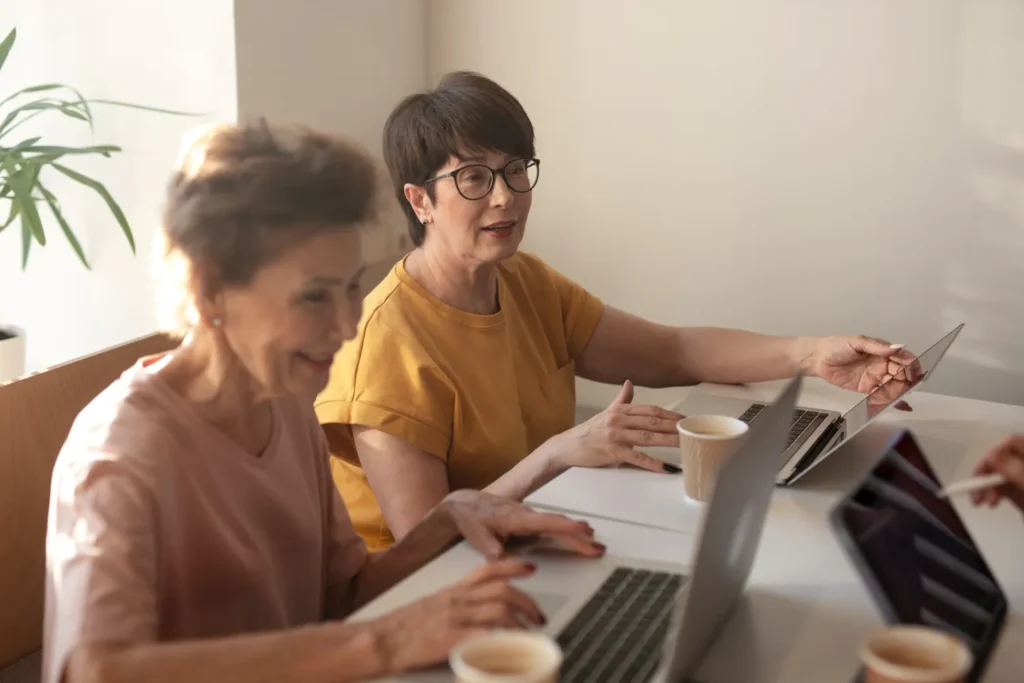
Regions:
[[[216,297],[223,336],[260,393],[310,395],[327,385],[362,314],[361,274],[359,230],[325,229]]]

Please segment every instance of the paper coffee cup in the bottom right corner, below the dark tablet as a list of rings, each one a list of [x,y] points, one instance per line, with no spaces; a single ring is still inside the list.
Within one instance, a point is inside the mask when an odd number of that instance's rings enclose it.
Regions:
[[[894,626],[860,650],[866,683],[964,683],[974,655],[959,638],[924,626]]]

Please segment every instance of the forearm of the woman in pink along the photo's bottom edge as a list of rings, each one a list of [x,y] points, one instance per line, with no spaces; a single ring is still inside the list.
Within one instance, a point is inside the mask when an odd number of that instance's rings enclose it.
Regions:
[[[372,624],[73,651],[66,683],[345,683],[393,673],[396,653]]]

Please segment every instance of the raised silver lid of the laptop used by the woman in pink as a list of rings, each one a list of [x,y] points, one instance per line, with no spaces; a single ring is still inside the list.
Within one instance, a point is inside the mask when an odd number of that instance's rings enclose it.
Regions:
[[[718,637],[743,592],[802,381],[801,375],[795,377],[761,413],[719,472],[705,508],[690,584],[673,613],[663,669],[654,680],[684,680]]]

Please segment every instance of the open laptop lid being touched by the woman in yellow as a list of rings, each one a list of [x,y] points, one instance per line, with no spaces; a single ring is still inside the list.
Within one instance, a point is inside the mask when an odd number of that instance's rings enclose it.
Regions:
[[[809,462],[806,466],[799,468],[786,483],[793,483],[804,476],[821,461],[836,453],[839,447],[848,441],[868,423],[873,421],[884,412],[895,405],[900,400],[904,400],[907,395],[922,384],[927,382],[935,374],[936,368],[946,355],[946,351],[952,346],[964,329],[964,324],[957,325],[945,337],[932,344],[924,353],[918,356],[916,366],[911,366],[907,371],[900,371],[892,379],[881,384],[877,389],[864,396],[856,405],[843,415],[843,422],[846,427],[846,437],[827,451],[822,451],[818,455],[809,454]]]

